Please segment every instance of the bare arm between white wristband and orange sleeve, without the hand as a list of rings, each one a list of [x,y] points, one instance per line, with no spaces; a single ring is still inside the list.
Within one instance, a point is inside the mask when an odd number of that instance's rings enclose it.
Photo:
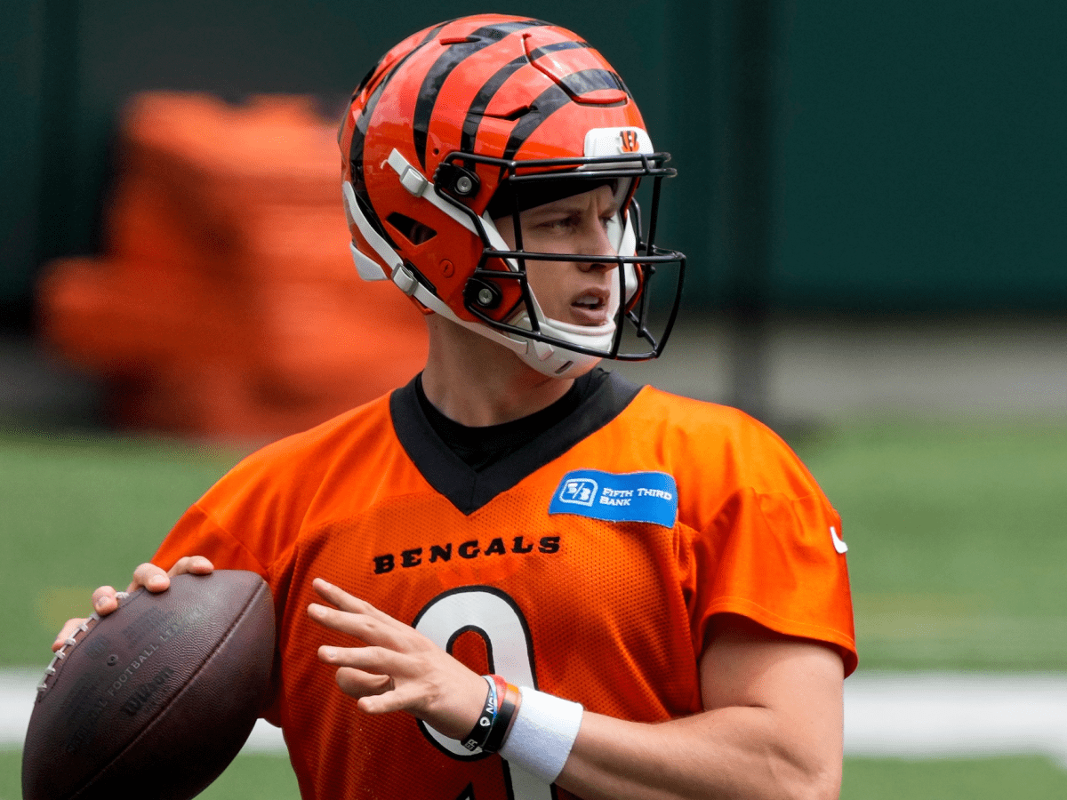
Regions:
[[[828,646],[719,618],[705,710],[655,725],[586,711],[556,783],[586,798],[837,798],[844,669]]]

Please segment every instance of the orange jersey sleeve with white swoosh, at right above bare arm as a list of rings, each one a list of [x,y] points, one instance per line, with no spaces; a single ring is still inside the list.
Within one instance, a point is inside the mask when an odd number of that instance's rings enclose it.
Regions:
[[[793,451],[754,421],[726,448],[720,469],[721,491],[707,493],[715,505],[704,498],[692,513],[682,547],[697,652],[712,618],[735,613],[833,646],[851,674],[858,656],[837,511]]]

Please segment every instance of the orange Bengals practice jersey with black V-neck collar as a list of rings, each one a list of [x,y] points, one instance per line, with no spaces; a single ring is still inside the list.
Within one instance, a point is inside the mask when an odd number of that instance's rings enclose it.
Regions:
[[[410,384],[243,461],[154,561],[204,555],[270,583],[267,717],[305,798],[544,800],[567,794],[407,714],[359,711],[317,657],[320,644],[353,642],[307,617],[312,579],[479,673],[653,722],[701,709],[698,661],[717,613],[824,641],[855,669],[840,534],[814,479],[765,427],[611,375],[480,473],[434,434]]]

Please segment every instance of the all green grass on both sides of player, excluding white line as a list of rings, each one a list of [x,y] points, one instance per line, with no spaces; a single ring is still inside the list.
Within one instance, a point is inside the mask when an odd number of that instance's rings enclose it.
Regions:
[[[1067,420],[865,421],[792,436],[844,518],[861,669],[1067,671]],[[0,667],[47,663],[91,590],[124,586],[237,450],[0,434]],[[0,800],[18,797],[0,753]],[[242,755],[203,797],[296,797],[287,762]],[[846,761],[842,797],[1067,797],[1044,758]]]

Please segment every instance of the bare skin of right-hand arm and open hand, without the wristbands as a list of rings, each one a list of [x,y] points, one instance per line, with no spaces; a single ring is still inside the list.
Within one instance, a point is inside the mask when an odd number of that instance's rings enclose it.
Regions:
[[[485,682],[416,630],[323,581],[308,612],[367,646],[321,647],[369,714],[405,710],[459,738]],[[555,783],[585,798],[835,798],[844,668],[827,645],[723,615],[700,662],[705,710],[656,724],[586,711]]]

